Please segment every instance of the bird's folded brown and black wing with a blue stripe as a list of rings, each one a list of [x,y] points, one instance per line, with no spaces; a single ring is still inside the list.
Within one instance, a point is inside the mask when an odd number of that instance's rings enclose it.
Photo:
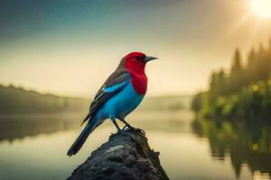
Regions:
[[[104,85],[100,87],[98,93],[95,95],[94,100],[90,104],[89,114],[82,124],[87,121],[91,115],[97,112],[98,108],[128,85],[131,77],[131,74],[126,68],[117,69],[111,76],[109,76]]]

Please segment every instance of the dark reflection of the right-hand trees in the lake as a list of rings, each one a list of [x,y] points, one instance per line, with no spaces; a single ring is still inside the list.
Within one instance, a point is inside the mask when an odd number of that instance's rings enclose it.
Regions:
[[[193,121],[194,132],[210,141],[211,156],[230,157],[237,178],[243,166],[254,176],[271,178],[271,126],[247,121]]]

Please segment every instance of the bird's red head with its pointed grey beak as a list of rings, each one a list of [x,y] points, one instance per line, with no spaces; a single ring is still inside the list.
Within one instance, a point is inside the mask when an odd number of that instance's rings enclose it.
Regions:
[[[138,73],[145,73],[145,64],[157,58],[147,57],[142,52],[131,52],[124,57],[125,59],[125,67],[131,71],[135,71]]]

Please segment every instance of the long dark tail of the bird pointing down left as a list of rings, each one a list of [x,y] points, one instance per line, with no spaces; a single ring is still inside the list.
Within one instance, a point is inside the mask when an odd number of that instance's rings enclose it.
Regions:
[[[79,137],[73,142],[70,149],[67,152],[67,156],[71,157],[72,155],[75,155],[78,153],[79,149],[83,146],[86,139],[88,139],[89,134],[97,127],[97,121],[95,120],[89,120],[88,124],[84,128],[84,130],[81,131]]]

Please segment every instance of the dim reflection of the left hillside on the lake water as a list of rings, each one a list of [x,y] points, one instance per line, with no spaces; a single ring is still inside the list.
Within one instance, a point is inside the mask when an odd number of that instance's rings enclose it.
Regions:
[[[80,116],[70,115],[40,115],[0,118],[0,142],[25,137],[34,137],[39,134],[51,134],[57,131],[73,130],[78,128]]]

